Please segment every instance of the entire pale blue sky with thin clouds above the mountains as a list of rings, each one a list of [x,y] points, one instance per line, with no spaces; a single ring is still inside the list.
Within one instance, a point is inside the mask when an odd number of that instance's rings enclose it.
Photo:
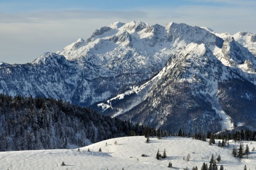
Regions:
[[[112,22],[169,22],[218,33],[256,34],[255,0],[94,0],[0,2],[0,61],[27,63]]]

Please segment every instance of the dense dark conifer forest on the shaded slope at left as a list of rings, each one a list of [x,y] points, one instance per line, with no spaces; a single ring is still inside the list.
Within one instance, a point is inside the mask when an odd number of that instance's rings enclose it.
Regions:
[[[143,135],[144,129],[62,100],[0,94],[0,151],[83,147],[86,139]]]

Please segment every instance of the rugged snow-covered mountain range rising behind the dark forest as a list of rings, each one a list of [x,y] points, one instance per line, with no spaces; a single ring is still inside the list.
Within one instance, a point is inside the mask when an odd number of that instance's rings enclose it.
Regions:
[[[187,133],[256,128],[256,35],[115,22],[57,53],[0,66],[0,92]]]

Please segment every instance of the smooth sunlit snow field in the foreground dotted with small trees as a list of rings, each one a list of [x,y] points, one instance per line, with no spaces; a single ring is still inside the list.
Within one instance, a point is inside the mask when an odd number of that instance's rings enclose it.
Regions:
[[[114,142],[117,141],[117,145]],[[256,142],[245,142],[250,148],[249,158],[234,158],[231,155],[233,145],[239,147],[239,143],[230,141],[229,147],[220,148],[209,145],[208,142],[193,140],[183,137],[167,137],[162,140],[150,138],[150,143],[145,143],[143,136],[120,137],[109,139],[87,147],[75,150],[35,150],[0,152],[1,169],[172,169],[167,165],[171,161],[175,169],[197,166],[201,169],[203,163],[210,164],[212,153],[215,157],[220,154],[221,161],[217,165],[223,165],[225,169],[255,169]],[[218,143],[218,142],[216,142]],[[106,145],[107,144],[107,145]],[[101,148],[102,152],[99,152]],[[90,152],[87,150],[90,149]],[[167,158],[156,160],[159,149],[163,154],[166,149]],[[147,157],[141,157],[146,154]],[[187,155],[190,154],[190,161]],[[185,160],[183,160],[183,157]],[[65,166],[61,166],[62,161]],[[173,168],[173,169],[174,169]]]

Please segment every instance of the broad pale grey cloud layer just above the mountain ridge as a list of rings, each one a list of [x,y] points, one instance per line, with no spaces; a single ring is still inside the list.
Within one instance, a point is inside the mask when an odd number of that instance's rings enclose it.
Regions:
[[[143,21],[165,25],[169,22],[205,26],[222,33],[256,33],[256,2],[250,0],[187,0],[181,5],[143,7],[132,10],[42,10],[0,13],[0,61],[25,63],[43,52],[55,52],[89,38],[95,29],[111,22]],[[213,2],[228,5],[209,5]],[[239,5],[242,4],[242,5]],[[117,8],[118,9],[118,8]],[[15,50],[13,50],[15,48]],[[18,56],[22,56],[18,58]]]

